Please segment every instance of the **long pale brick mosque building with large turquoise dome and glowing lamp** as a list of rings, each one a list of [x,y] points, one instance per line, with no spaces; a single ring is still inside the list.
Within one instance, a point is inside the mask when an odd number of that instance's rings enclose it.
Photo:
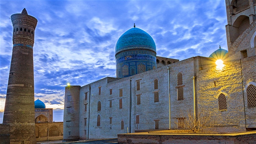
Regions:
[[[226,0],[228,51],[219,47],[209,57],[159,57],[147,32],[124,32],[115,78],[65,88],[63,141],[183,129],[202,113],[211,114],[208,132],[256,130],[255,4]]]

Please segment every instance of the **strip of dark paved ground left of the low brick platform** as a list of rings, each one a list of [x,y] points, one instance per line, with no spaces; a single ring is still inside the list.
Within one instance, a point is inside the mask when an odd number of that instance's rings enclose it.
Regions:
[[[76,141],[76,142],[46,141],[46,142],[37,142],[37,144],[117,144],[117,139],[87,140],[87,141]]]

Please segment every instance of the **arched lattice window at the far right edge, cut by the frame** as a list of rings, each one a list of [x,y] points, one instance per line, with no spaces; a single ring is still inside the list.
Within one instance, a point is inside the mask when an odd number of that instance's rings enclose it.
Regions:
[[[247,105],[248,107],[255,107],[256,106],[256,87],[254,85],[249,85],[246,89],[247,95]]]

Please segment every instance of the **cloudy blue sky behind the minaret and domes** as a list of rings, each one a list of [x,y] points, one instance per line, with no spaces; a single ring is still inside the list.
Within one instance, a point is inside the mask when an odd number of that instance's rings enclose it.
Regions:
[[[12,55],[11,15],[26,8],[35,29],[35,100],[63,121],[65,86],[116,76],[115,45],[135,23],[156,55],[184,60],[227,49],[225,0],[1,0],[0,123]]]

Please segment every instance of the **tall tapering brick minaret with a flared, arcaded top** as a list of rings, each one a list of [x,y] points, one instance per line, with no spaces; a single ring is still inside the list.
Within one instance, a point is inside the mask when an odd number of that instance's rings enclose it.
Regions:
[[[37,19],[22,13],[11,15],[12,60],[3,123],[10,125],[10,143],[36,143],[33,46]]]

